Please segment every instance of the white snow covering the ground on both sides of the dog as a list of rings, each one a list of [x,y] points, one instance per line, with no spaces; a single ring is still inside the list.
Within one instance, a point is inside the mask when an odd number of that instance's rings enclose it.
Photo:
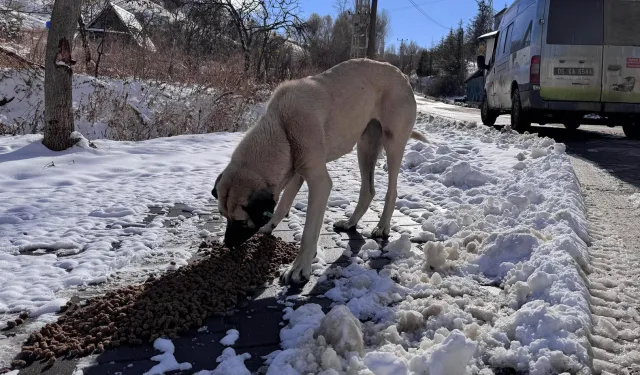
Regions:
[[[589,373],[589,234],[564,145],[430,115],[418,122],[430,143],[407,146],[397,209],[422,230],[396,232],[383,249],[369,241],[358,253],[335,236],[352,263],[315,266],[332,283],[325,297],[335,306],[328,314],[315,304],[284,309],[282,350],[266,358],[268,374]],[[165,266],[188,258],[186,246],[169,256],[159,246],[197,236],[196,219],[184,219],[179,232],[128,224],[149,205],[203,210],[240,137],[97,140],[97,149],[82,142],[62,154],[46,151],[38,135],[0,137],[0,313],[46,319],[70,288],[150,257],[166,257]],[[359,185],[342,171],[357,171],[355,160],[330,165],[338,187],[331,206],[345,216]],[[288,224],[301,230],[305,202],[295,206]],[[364,259],[376,257],[391,263],[371,269]],[[236,332],[229,335],[232,344]],[[156,344],[166,354],[160,364],[187,368],[171,345]],[[248,373],[246,358],[229,347],[219,369]]]

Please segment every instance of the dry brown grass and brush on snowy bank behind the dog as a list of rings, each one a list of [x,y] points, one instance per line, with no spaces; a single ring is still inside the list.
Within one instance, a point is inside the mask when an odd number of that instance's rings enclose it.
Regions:
[[[10,42],[19,46],[21,56],[43,64],[46,37],[46,31],[22,33]],[[94,76],[99,58],[97,77],[100,80],[117,79],[125,84],[143,82],[154,90],[136,97],[134,105],[125,90],[114,92],[96,85],[90,97],[76,108],[76,121],[106,123],[108,131],[103,132],[102,137],[138,141],[245,130],[256,120],[252,110],[268,99],[274,84],[258,83],[247,74],[239,51],[230,51],[219,58],[189,56],[169,41],[158,39],[154,39],[157,52],[123,40],[107,39],[101,46],[101,40],[90,39],[92,61],[85,64],[85,52],[78,36],[73,51],[77,61],[75,74]],[[23,65],[0,54],[0,68],[20,69]],[[311,71],[301,73],[311,74]],[[163,89],[165,86],[167,90]],[[140,113],[141,102],[154,108],[152,118]],[[41,132],[43,103],[32,107],[32,111],[16,123],[0,123],[0,134]]]

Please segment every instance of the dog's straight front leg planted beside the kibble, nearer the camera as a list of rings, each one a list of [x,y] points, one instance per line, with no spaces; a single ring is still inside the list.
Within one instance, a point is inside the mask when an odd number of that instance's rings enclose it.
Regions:
[[[303,280],[309,280],[311,276],[311,263],[318,248],[318,237],[332,187],[331,177],[324,164],[321,168],[307,169],[307,173],[301,174],[309,186],[309,205],[302,231],[300,252],[291,268],[282,275],[282,281],[286,284],[298,284]]]

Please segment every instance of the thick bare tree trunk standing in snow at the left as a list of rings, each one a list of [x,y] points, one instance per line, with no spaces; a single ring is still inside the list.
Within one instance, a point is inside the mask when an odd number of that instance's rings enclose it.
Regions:
[[[42,143],[53,151],[73,145],[72,108],[73,36],[80,17],[82,0],[55,0],[51,28],[47,36],[44,76],[44,139]]]

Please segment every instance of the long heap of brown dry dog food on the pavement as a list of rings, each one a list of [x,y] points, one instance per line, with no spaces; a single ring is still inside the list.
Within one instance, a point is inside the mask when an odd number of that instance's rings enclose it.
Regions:
[[[271,235],[256,235],[233,250],[203,242],[202,257],[194,263],[82,305],[67,303],[56,323],[31,334],[13,365],[41,359],[53,364],[56,357],[81,357],[161,336],[176,338],[272,280],[297,251],[296,245]]]

